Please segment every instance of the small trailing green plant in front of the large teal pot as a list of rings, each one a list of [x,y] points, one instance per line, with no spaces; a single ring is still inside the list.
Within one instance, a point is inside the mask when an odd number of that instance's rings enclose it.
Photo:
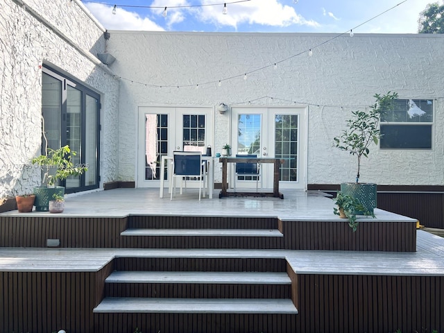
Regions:
[[[336,198],[334,198],[334,204],[338,206],[337,208],[333,208],[334,214],[339,215],[341,219],[348,219],[348,225],[350,225],[353,232],[357,230],[357,226],[359,225],[356,219],[358,212],[362,215],[375,218],[375,214],[367,210],[367,208],[359,202],[359,199],[343,194],[341,191],[337,192]]]

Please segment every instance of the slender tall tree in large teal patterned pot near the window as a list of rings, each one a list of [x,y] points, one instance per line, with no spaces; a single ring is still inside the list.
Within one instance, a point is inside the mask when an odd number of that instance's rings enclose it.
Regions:
[[[346,121],[346,129],[342,135],[334,137],[334,146],[341,151],[348,151],[350,155],[357,157],[357,175],[355,182],[341,183],[341,192],[344,195],[357,198],[373,214],[377,206],[377,185],[374,183],[359,182],[361,159],[368,157],[370,146],[377,145],[381,137],[379,121],[381,115],[393,109],[393,100],[398,98],[396,92],[388,92],[384,95],[375,94],[376,101],[368,110],[352,111],[351,119]],[[362,214],[362,212],[356,212]]]

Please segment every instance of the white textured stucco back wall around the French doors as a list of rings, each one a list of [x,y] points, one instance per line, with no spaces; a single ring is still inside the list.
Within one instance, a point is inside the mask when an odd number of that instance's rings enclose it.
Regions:
[[[369,160],[362,162],[361,182],[444,185],[444,36],[335,37],[110,31],[108,50],[117,58],[112,69],[123,78],[119,99],[120,178],[135,180],[137,107],[215,106],[221,101],[235,106],[252,101],[253,105],[308,104],[307,182],[353,181],[355,158],[333,148],[333,137],[343,130],[351,110],[363,108],[351,105],[371,105],[374,94],[395,91],[400,99],[434,99],[434,148],[373,148]],[[313,51],[311,57],[309,49]],[[275,62],[279,62],[276,69]],[[267,68],[244,80],[244,73],[262,67]],[[232,76],[239,77],[223,80]],[[221,79],[219,87],[214,81]],[[202,85],[207,82],[213,83]],[[191,87],[165,87],[168,85]],[[273,100],[259,99],[262,96]],[[215,123],[214,146],[221,147],[229,141],[230,112],[215,112]]]

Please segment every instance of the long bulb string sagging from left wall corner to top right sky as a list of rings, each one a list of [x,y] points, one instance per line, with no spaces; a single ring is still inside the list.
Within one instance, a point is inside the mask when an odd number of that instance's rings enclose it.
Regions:
[[[244,1],[250,1],[250,0],[244,0]],[[290,56],[290,57],[285,58],[285,59],[282,59],[282,60],[278,60],[278,61],[276,61],[276,62],[271,63],[270,65],[265,65],[265,66],[263,66],[263,67],[259,67],[259,68],[257,68],[257,69],[253,69],[253,70],[251,70],[251,71],[246,71],[246,72],[244,72],[244,73],[242,73],[242,74],[238,74],[238,75],[230,76],[230,77],[227,77],[227,78],[221,78],[221,79],[219,79],[219,80],[212,80],[212,81],[207,81],[207,82],[204,82],[204,83],[195,83],[195,84],[189,84],[189,85],[154,85],[154,84],[151,84],[151,83],[142,83],[142,82],[138,82],[138,81],[135,81],[135,80],[130,80],[130,79],[128,79],[128,78],[123,78],[123,77],[121,77],[121,76],[118,76],[118,77],[119,77],[121,80],[126,80],[126,81],[128,81],[128,82],[130,82],[130,83],[137,83],[137,84],[139,84],[139,85],[145,85],[146,87],[155,87],[155,88],[159,88],[159,89],[162,89],[162,88],[164,88],[164,87],[165,87],[165,88],[172,88],[172,87],[175,87],[175,88],[178,88],[178,89],[181,88],[181,87],[201,87],[201,86],[203,86],[203,85],[212,85],[212,84],[214,84],[214,83],[217,83],[217,84],[221,85],[221,83],[223,83],[223,82],[225,82],[225,81],[232,80],[232,79],[234,79],[234,78],[241,78],[241,77],[244,77],[244,78],[245,78],[245,77],[248,76],[249,74],[253,74],[253,73],[257,72],[257,71],[262,71],[262,70],[267,69],[267,68],[269,68],[269,67],[275,67],[276,65],[278,65],[278,64],[280,64],[280,63],[282,63],[282,62],[287,62],[287,61],[289,61],[289,60],[291,60],[291,59],[293,59],[293,58],[296,58],[296,57],[298,57],[298,56],[300,56],[300,55],[302,55],[302,54],[304,54],[304,53],[307,53],[307,52],[308,52],[308,53],[311,53],[311,51],[313,51],[314,49],[316,49],[316,48],[318,48],[318,47],[321,47],[321,46],[323,46],[323,45],[325,45],[325,44],[327,44],[327,43],[330,43],[330,42],[332,42],[333,40],[336,40],[337,38],[339,38],[339,37],[341,37],[341,36],[343,36],[343,35],[346,35],[346,34],[348,34],[348,33],[351,33],[351,32],[353,31],[353,29],[359,28],[360,26],[363,26],[364,24],[367,24],[368,22],[373,21],[373,19],[376,19],[377,17],[380,17],[380,16],[384,15],[386,12],[389,12],[389,11],[395,9],[396,7],[402,5],[402,3],[405,3],[405,2],[407,2],[407,1],[408,1],[408,0],[401,1],[400,3],[396,4],[395,6],[393,6],[393,7],[391,7],[391,8],[388,8],[387,10],[384,10],[384,12],[379,13],[378,15],[376,15],[376,16],[374,16],[374,17],[372,17],[372,18],[366,20],[365,22],[363,22],[363,23],[361,23],[361,24],[355,26],[354,28],[352,28],[352,29],[350,29],[350,30],[348,30],[348,31],[345,31],[344,33],[339,33],[338,35],[336,35],[336,36],[330,38],[329,40],[325,40],[324,42],[322,42],[322,43],[320,43],[320,44],[317,44],[317,45],[315,45],[315,46],[311,46],[309,49],[307,49],[307,50],[305,50],[305,51],[300,51],[299,53],[293,54],[293,56]],[[84,2],[87,2],[87,1],[84,1]],[[92,1],[90,1],[90,2],[92,2]],[[237,1],[237,2],[242,2],[242,1]],[[159,7],[159,8],[163,8],[163,7]],[[314,105],[316,105],[316,104],[314,104]]]

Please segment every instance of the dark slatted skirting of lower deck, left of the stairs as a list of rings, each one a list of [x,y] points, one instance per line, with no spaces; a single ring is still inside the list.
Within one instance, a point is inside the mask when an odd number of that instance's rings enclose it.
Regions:
[[[0,272],[0,332],[92,332],[111,271]]]

